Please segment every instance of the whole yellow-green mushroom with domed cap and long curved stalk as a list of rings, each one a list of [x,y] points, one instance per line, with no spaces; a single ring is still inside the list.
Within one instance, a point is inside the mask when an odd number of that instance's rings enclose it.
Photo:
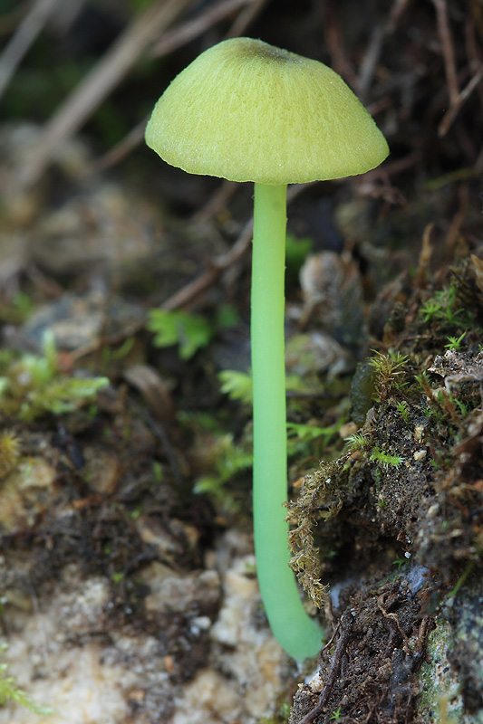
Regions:
[[[389,148],[321,62],[251,38],[202,52],[159,98],[146,143],[191,174],[255,182],[252,259],[256,570],[275,638],[298,661],[320,649],[289,568],[285,410],[286,186],[362,174]]]

